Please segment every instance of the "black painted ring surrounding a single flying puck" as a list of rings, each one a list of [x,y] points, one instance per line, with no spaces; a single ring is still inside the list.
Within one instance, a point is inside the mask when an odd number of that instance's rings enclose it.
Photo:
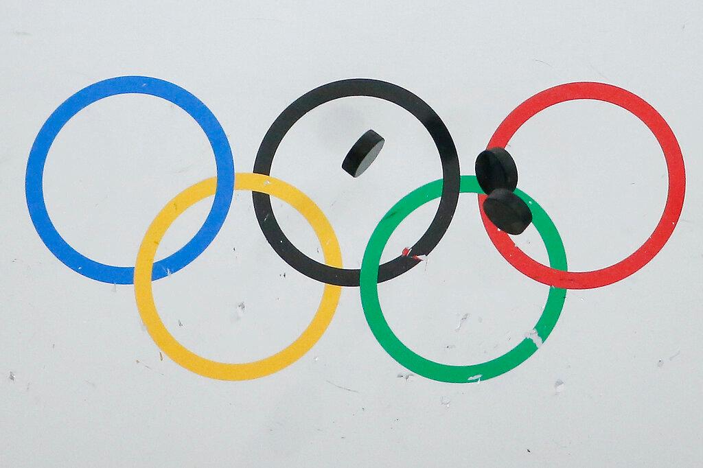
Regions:
[[[441,199],[430,227],[427,228],[420,240],[415,242],[411,249],[413,255],[427,255],[432,252],[432,249],[446,233],[456,211],[461,174],[459,171],[459,158],[449,130],[444,125],[444,122],[441,121],[437,112],[434,112],[418,96],[400,86],[375,79],[355,78],[324,84],[305,93],[293,101],[288,108],[285,108],[271,124],[271,128],[266,132],[266,136],[264,136],[264,140],[259,146],[257,158],[254,161],[254,172],[266,175],[271,174],[271,164],[273,163],[273,156],[276,155],[278,145],[280,145],[283,137],[293,124],[307,112],[318,105],[328,103],[330,100],[349,96],[369,96],[399,105],[414,115],[425,126],[425,129],[432,136],[434,144],[437,145],[444,184],[442,186]],[[273,215],[271,197],[268,194],[254,192],[252,198],[254,200],[254,212],[257,215],[259,226],[262,228],[266,240],[269,241],[273,250],[287,264],[309,278],[330,285],[359,286],[359,269],[335,268],[321,264],[300,252],[295,245],[292,245],[290,240],[285,237],[283,230],[280,229],[276,216]],[[398,256],[380,266],[378,281],[383,282],[395,278],[418,263],[419,260],[413,259],[411,255]]]

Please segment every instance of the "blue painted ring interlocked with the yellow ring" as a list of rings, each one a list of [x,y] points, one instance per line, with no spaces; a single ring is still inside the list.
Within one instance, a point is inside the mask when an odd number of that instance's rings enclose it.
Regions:
[[[32,223],[34,223],[39,237],[63,264],[93,280],[119,285],[134,283],[134,266],[101,264],[79,254],[68,245],[56,227],[53,226],[49,213],[46,211],[43,182],[46,155],[49,153],[49,148],[51,148],[56,135],[66,122],[89,104],[108,96],[126,93],[148,94],[164,98],[188,112],[188,115],[191,115],[205,132],[212,146],[217,165],[217,190],[215,190],[212,209],[210,209],[205,223],[179,251],[154,264],[153,280],[179,271],[207,248],[224,223],[234,193],[232,149],[221,124],[205,104],[180,86],[151,77],[116,77],[91,84],[65,100],[41,127],[32,145],[32,150],[30,150],[25,177],[27,208],[30,210]]]

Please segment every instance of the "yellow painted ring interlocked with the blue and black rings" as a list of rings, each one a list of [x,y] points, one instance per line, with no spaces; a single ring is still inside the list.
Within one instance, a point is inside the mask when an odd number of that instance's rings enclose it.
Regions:
[[[156,249],[169,226],[191,205],[205,197],[214,195],[217,178],[208,178],[196,183],[176,195],[156,216],[146,231],[136,256],[134,267],[134,296],[139,315],[146,329],[159,348],[172,360],[196,374],[212,379],[246,380],[273,374],[301,358],[320,339],[335,315],[340,300],[340,286],[325,285],[320,306],[311,323],[288,347],[273,356],[251,363],[219,363],[205,359],[186,349],[169,333],[159,317],[151,290],[151,273]],[[322,246],[325,262],[330,266],[342,266],[342,252],[335,231],[321,209],[307,195],[278,178],[263,174],[238,173],[235,190],[252,190],[268,193],[288,202],[310,223]]]

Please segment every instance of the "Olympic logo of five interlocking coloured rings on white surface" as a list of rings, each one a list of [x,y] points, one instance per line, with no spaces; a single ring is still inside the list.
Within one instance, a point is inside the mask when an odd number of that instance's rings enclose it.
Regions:
[[[68,245],[53,225],[44,201],[44,166],[51,144],[63,126],[91,103],[117,94],[140,93],[156,96],[178,105],[205,132],[212,146],[217,177],[208,178],[186,188],[157,214],[138,249],[134,267],[112,266],[91,260]],[[417,118],[437,145],[442,165],[442,178],[413,190],[397,202],[380,220],[370,235],[360,269],[342,268],[342,253],[333,227],[325,214],[307,195],[285,181],[270,176],[273,157],[285,134],[303,115],[318,105],[347,96],[370,96],[387,100],[408,110]],[[555,327],[564,306],[568,289],[590,289],[617,282],[645,266],[666,244],[676,227],[685,195],[685,169],[681,148],[664,118],[645,100],[610,84],[568,83],[541,91],[524,101],[505,117],[491,137],[488,148],[505,148],[520,126],[551,105],[567,100],[591,99],[618,105],[636,115],[652,131],[664,152],[669,175],[669,188],[662,218],[650,238],[635,252],[617,264],[597,271],[567,270],[564,245],[553,221],[529,195],[510,186],[515,200],[527,207],[530,221],[540,234],[549,259],[549,266],[524,254],[510,240],[505,230],[491,222],[486,214],[485,184],[480,177],[462,176],[456,147],[449,130],[427,103],[410,91],[374,79],[347,79],[320,86],[288,106],[271,125],[257,152],[252,173],[236,173],[232,151],[221,124],[207,106],[185,89],[152,77],[116,77],[106,79],[78,91],[49,116],[34,140],[27,161],[25,191],[32,223],[46,247],[63,264],[93,280],[114,284],[134,284],[136,305],[143,323],[159,348],[183,368],[199,375],[224,380],[255,379],[270,375],[304,356],[330,324],[342,286],[359,287],[366,321],[387,353],[399,364],[417,375],[441,382],[477,382],[496,377],[517,367],[538,349]],[[368,134],[368,135],[367,135]],[[367,132],[352,148],[344,169],[358,176],[378,154],[383,141],[378,134]],[[505,152],[507,154],[507,152]],[[350,156],[352,157],[351,159]],[[509,155],[508,155],[509,157]],[[478,166],[477,166],[478,168]],[[477,171],[478,174],[478,171]],[[510,185],[510,184],[508,184]],[[282,351],[250,363],[220,363],[198,356],[181,345],[167,330],[154,304],[151,283],[179,271],[196,259],[219,233],[233,198],[234,190],[253,192],[254,212],[269,244],[292,268],[325,287],[318,310],[308,327]],[[422,256],[432,252],[446,233],[456,210],[460,193],[476,193],[482,221],[498,252],[518,271],[538,282],[550,285],[541,317],[533,334],[498,358],[473,365],[446,365],[428,360],[413,352],[396,337],[384,318],[378,299],[378,282],[391,280],[416,266]],[[173,221],[191,205],[214,195],[212,208],[198,232],[181,249],[167,258],[155,261],[154,256],[163,236]],[[290,204],[314,229],[321,244],[324,264],[300,252],[281,230],[271,207],[271,196]],[[430,226],[411,249],[395,259],[380,264],[382,251],[394,230],[421,205],[439,198],[437,213]],[[524,227],[523,227],[524,228]],[[508,230],[510,232],[510,230]],[[408,254],[412,252],[413,255]]]

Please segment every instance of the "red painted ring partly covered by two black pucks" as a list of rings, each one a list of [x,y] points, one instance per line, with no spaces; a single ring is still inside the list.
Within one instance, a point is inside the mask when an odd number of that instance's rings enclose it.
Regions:
[[[537,93],[517,106],[515,110],[510,112],[508,117],[505,117],[505,120],[501,122],[498,129],[496,129],[496,133],[491,138],[488,148],[496,146],[505,148],[517,129],[520,129],[520,126],[537,112],[550,107],[550,105],[575,99],[602,100],[628,110],[644,122],[657,138],[662,150],[664,150],[666,169],[669,172],[669,193],[666,195],[666,206],[664,207],[662,219],[659,219],[659,223],[654,228],[650,238],[626,259],[607,268],[594,271],[560,271],[544,266],[527,256],[510,240],[507,234],[498,230],[489,221],[482,208],[486,195],[479,195],[479,209],[486,231],[496,249],[518,271],[546,285],[573,290],[587,290],[593,287],[611,285],[623,278],[627,278],[645,266],[654,258],[654,255],[659,253],[666,241],[671,237],[673,228],[676,227],[678,222],[678,217],[681,216],[686,188],[686,174],[683,167],[681,148],[678,145],[678,141],[676,141],[676,136],[673,135],[671,127],[659,115],[659,112],[630,91],[604,83],[560,84]]]

